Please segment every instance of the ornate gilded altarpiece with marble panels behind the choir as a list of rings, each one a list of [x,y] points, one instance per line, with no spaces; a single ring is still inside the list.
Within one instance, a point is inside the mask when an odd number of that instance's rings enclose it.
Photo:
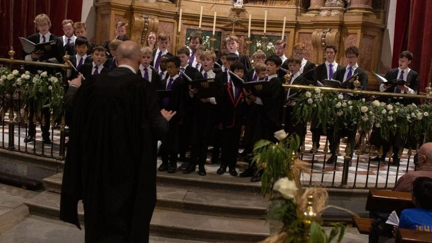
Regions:
[[[128,36],[141,45],[146,44],[148,33],[166,32],[172,38],[170,51],[185,44],[186,29],[198,29],[200,8],[203,6],[202,30],[213,29],[217,12],[216,31],[223,37],[231,34],[230,19],[233,2],[229,0],[95,0],[97,14],[95,42],[103,43],[114,37],[118,21],[128,23]],[[179,12],[182,8],[181,31],[178,32]],[[240,40],[240,51],[245,52],[248,16],[251,14],[251,34],[262,35],[264,13],[268,10],[267,35],[281,36],[286,16],[286,55],[292,53],[295,43],[306,45],[305,58],[323,63],[323,45],[334,44],[339,50],[355,45],[360,50],[358,64],[368,71],[369,89],[378,83],[371,71],[378,72],[385,29],[384,0],[245,0],[244,11],[235,25]],[[338,63],[345,64],[343,51],[337,54]]]

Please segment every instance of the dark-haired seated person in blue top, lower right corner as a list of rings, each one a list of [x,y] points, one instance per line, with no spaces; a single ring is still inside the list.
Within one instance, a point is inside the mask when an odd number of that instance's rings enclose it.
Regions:
[[[412,201],[417,208],[402,211],[398,227],[432,232],[432,178],[415,179]]]

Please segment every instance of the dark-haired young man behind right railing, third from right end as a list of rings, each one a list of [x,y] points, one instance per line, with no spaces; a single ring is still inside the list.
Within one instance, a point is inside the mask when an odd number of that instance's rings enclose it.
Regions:
[[[318,65],[315,68],[315,78],[317,81],[320,81],[323,83],[324,80],[330,80],[333,79],[334,73],[337,70],[344,69],[341,65],[338,65],[336,62],[336,54],[337,54],[337,47],[332,44],[328,44],[324,48],[324,55],[325,55],[325,62],[323,64]],[[315,118],[314,118],[315,119]],[[312,142],[315,143],[316,148],[320,148],[320,138],[323,134],[322,126],[317,127],[317,122],[313,120],[311,124],[310,131],[312,132]],[[312,152],[312,149],[311,151]]]

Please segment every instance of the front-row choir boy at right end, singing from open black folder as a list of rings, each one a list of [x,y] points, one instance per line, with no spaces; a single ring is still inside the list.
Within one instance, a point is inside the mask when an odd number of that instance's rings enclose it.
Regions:
[[[248,133],[253,134],[253,139],[251,139],[250,144],[254,144],[260,139],[267,139],[276,142],[274,132],[281,128],[282,104],[286,100],[281,81],[277,77],[277,70],[279,70],[281,64],[282,60],[277,55],[270,55],[266,60],[267,77],[264,80],[270,82],[271,94],[269,97],[255,97],[251,92],[243,89],[243,92],[246,95],[246,101],[258,105],[258,119],[254,129],[246,128]],[[248,169],[246,169],[246,171],[241,173],[240,176],[248,177],[253,175],[255,171],[256,164],[253,163]],[[251,181],[260,181],[261,175],[262,170],[255,173]]]

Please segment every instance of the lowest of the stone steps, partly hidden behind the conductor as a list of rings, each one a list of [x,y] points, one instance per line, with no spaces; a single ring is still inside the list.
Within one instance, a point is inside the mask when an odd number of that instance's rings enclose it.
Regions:
[[[44,191],[25,204],[31,215],[57,219],[60,194]],[[78,206],[82,222],[82,204]],[[153,236],[206,242],[257,242],[270,236],[269,221],[198,215],[156,209],[150,223]]]

